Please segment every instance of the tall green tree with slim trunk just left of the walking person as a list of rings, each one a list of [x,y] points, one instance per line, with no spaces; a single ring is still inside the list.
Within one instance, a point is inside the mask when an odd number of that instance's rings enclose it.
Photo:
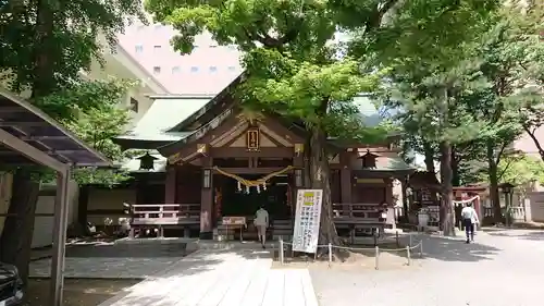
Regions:
[[[391,68],[387,88],[405,125],[438,144],[444,203],[443,230],[454,234],[452,154],[456,144],[486,131],[462,99],[489,85],[470,54],[497,1],[403,1],[372,38],[359,37],[353,52]],[[469,59],[469,60],[467,60]]]

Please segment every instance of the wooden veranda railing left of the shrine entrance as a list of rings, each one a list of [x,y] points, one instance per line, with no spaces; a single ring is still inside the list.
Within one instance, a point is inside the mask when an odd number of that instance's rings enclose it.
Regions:
[[[132,225],[176,225],[200,222],[200,204],[126,205]]]

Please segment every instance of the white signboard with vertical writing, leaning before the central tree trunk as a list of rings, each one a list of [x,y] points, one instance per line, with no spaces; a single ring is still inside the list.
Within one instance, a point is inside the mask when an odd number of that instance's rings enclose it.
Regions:
[[[293,250],[316,253],[321,221],[322,189],[299,189],[293,231]]]

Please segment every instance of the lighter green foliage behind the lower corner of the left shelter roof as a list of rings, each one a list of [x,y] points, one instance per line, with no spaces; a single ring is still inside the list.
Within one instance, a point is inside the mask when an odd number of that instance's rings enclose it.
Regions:
[[[125,158],[112,139],[129,123],[126,108],[120,108],[127,90],[134,86],[127,81],[91,81],[81,83],[38,100],[38,106],[50,113],[63,114],[62,123],[77,137],[113,161]],[[74,172],[81,184],[113,185],[129,179],[121,170],[83,168]]]

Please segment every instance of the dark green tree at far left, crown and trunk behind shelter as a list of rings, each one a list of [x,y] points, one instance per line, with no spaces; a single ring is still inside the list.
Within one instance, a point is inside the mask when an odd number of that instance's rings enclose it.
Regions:
[[[79,71],[88,70],[94,59],[101,59],[99,38],[114,42],[115,35],[134,17],[145,21],[140,1],[2,1],[2,76],[11,90],[29,90],[32,101],[39,103],[51,94],[77,86]],[[59,106],[60,112],[51,115],[62,121],[62,114],[71,113],[66,108],[77,102]],[[14,170],[10,217],[0,241],[0,259],[15,264],[25,284],[39,192],[36,172],[42,171],[27,167]]]

